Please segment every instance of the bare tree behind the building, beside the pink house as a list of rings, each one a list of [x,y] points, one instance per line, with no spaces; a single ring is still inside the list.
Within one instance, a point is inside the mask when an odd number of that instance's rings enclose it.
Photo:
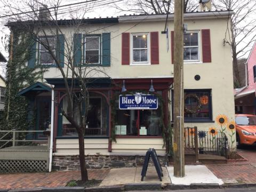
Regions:
[[[251,50],[252,43],[256,39],[256,1],[255,0],[215,0],[213,5],[217,9],[233,10],[230,15],[231,27],[228,28],[223,39],[224,44],[229,44],[232,49],[234,84],[238,88],[241,85],[239,79],[238,59],[246,56]]]

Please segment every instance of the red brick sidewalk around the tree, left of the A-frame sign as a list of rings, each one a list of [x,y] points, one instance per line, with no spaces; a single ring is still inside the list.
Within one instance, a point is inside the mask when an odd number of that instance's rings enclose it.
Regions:
[[[109,169],[88,170],[89,179],[103,180],[109,171]],[[80,179],[80,171],[0,174],[0,189],[63,187],[70,180]]]

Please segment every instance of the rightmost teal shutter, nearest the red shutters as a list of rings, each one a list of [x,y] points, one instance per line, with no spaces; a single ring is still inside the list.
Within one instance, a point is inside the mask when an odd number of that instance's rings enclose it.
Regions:
[[[110,33],[102,34],[102,66],[110,66]]]

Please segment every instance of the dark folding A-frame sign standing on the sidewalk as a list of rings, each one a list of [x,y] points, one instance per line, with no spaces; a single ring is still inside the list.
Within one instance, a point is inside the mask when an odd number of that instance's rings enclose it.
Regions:
[[[156,154],[156,150],[154,148],[149,148],[147,153],[146,153],[144,164],[143,164],[142,171],[141,171],[141,181],[143,181],[144,177],[146,176],[150,156],[151,156],[151,158],[154,162],[156,172],[157,172],[157,175],[158,175],[158,179],[160,181],[162,181],[162,177],[164,176],[163,175],[163,170],[162,170],[162,167],[159,163],[159,160],[158,160],[158,157],[157,157],[157,154]]]

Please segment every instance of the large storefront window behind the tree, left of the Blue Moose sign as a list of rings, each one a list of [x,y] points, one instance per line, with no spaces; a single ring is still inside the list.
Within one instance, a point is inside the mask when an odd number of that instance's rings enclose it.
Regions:
[[[63,99],[63,109],[67,109],[67,100]],[[80,124],[78,106],[75,106],[75,117],[78,124]],[[108,130],[108,104],[106,98],[101,94],[90,93],[89,108],[87,114],[87,125],[85,128],[86,136],[100,136],[107,135]],[[77,137],[75,127],[62,116],[62,136]]]

